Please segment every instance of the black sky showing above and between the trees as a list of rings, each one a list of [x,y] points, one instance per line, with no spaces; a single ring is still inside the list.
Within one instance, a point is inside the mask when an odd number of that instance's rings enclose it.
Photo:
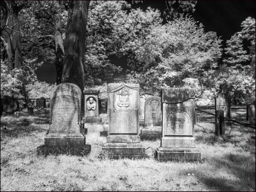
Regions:
[[[163,18],[162,12],[166,9],[165,1],[143,1],[143,3],[133,4],[132,8],[140,7],[145,10],[148,6],[159,9]],[[195,9],[195,12],[191,13],[192,17],[204,25],[206,32],[215,31],[218,37],[222,36],[223,44],[234,33],[241,31],[241,22],[247,17],[255,18],[255,1],[197,1]],[[129,69],[127,57],[118,59],[115,56],[111,56],[109,59],[113,64],[123,68],[123,71],[115,74],[114,77],[126,74],[125,70]],[[37,67],[36,74],[40,81],[46,81],[46,83],[56,82],[56,68],[52,63],[44,63],[42,66]],[[112,78],[108,83],[113,81],[114,79]]]

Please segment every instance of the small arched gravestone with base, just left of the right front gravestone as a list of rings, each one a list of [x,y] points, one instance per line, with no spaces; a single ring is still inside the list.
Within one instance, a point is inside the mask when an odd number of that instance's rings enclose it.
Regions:
[[[152,96],[145,102],[145,123],[141,139],[160,138],[162,134],[161,98]]]

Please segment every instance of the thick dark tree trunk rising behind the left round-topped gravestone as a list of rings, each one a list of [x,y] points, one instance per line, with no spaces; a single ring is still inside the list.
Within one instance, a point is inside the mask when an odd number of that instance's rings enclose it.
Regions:
[[[74,83],[84,89],[84,54],[90,1],[69,1],[65,56],[61,83]]]

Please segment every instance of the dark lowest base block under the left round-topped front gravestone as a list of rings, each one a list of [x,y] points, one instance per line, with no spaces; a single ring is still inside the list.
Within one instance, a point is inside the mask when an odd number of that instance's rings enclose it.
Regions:
[[[91,152],[91,145],[85,144],[83,146],[45,146],[37,147],[38,155],[78,155],[83,156]]]

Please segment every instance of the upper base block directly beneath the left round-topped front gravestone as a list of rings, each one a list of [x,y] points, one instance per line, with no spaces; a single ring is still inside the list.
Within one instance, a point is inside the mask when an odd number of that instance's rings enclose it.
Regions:
[[[45,136],[46,146],[83,146],[85,136],[81,133],[49,133]]]

